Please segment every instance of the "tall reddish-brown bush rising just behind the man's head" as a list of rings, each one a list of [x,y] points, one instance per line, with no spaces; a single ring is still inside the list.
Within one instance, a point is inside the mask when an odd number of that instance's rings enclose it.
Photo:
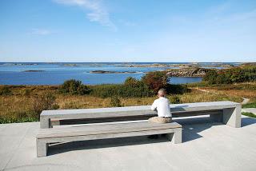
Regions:
[[[150,72],[142,77],[142,82],[154,90],[154,93],[158,93],[159,89],[166,88],[169,81],[169,76],[166,75],[166,72],[162,71]]]

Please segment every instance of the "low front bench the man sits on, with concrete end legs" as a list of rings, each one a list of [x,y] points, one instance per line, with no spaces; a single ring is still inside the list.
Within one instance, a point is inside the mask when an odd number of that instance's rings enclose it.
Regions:
[[[59,126],[53,129],[40,129],[37,141],[37,155],[47,155],[48,145],[56,142],[85,141],[115,137],[134,137],[167,133],[175,144],[182,142],[182,125],[176,122],[158,124],[149,121],[128,121],[105,123],[102,125]]]

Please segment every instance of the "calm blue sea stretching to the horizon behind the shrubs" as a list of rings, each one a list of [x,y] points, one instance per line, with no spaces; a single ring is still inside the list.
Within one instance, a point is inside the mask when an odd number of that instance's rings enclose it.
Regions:
[[[81,80],[84,84],[122,83],[127,77],[142,78],[149,71],[166,70],[170,67],[124,67],[125,65],[146,65],[150,62],[135,63],[19,63],[0,62],[0,85],[59,85],[68,79]],[[178,63],[166,63],[178,64]],[[183,63],[184,64],[184,63]],[[211,63],[202,63],[202,65]],[[38,72],[26,72],[39,70]],[[134,74],[91,74],[90,71],[128,71]],[[200,82],[202,78],[171,78],[172,84]]]

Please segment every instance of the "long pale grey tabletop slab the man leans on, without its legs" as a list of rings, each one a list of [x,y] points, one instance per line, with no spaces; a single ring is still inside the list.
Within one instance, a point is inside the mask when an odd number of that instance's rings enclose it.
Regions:
[[[171,112],[189,112],[189,111],[202,111],[214,109],[234,108],[238,103],[233,101],[211,101],[211,102],[198,102],[198,103],[184,103],[184,104],[171,104]],[[98,108],[98,109],[57,109],[57,110],[44,110],[41,117],[50,118],[76,118],[85,115],[85,118],[95,117],[118,117],[118,116],[139,116],[149,113],[155,114],[150,110],[150,105],[128,106],[128,107],[115,107],[115,108]]]

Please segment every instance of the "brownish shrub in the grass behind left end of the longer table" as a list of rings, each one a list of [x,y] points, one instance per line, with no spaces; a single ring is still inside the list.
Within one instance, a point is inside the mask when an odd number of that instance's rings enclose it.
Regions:
[[[42,110],[58,109],[59,106],[55,103],[56,97],[52,93],[45,93],[34,98],[33,108],[34,112],[38,113],[38,118]]]

